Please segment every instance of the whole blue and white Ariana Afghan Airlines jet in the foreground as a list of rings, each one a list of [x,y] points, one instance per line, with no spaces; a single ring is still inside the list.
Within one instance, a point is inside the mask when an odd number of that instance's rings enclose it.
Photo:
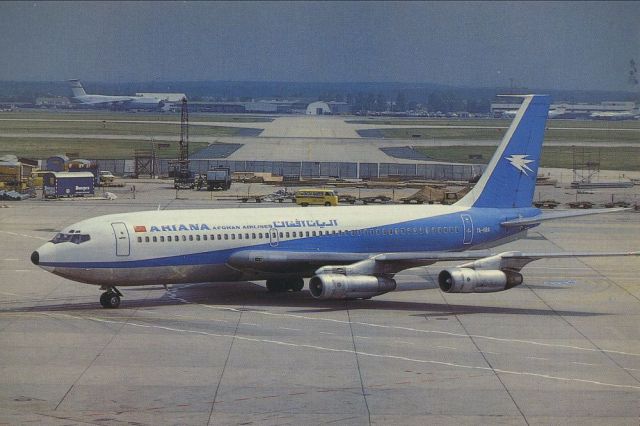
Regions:
[[[522,284],[522,268],[545,258],[628,253],[491,252],[543,221],[624,209],[532,207],[549,97],[524,95],[474,188],[450,206],[338,206],[157,210],[99,216],[67,226],[34,251],[35,265],[100,286],[105,308],[116,286],[266,280],[270,292],[368,299],[395,290],[394,275],[440,261],[448,293],[489,293]]]

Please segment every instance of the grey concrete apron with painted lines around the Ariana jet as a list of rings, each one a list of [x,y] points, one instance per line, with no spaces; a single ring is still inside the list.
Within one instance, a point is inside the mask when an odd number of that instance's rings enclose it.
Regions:
[[[640,420],[638,258],[538,261],[524,285],[484,295],[440,292],[444,264],[404,271],[398,291],[368,301],[318,301],[306,287],[269,294],[264,282],[123,287],[117,310],[100,307],[97,287],[29,261],[87,217],[263,207],[185,198],[140,185],[135,200],[4,203],[0,423]],[[640,214],[622,212],[550,222],[501,250],[631,251],[638,241]]]

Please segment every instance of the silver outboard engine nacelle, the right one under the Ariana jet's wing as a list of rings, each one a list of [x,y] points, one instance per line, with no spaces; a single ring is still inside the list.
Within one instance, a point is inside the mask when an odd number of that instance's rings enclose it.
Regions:
[[[445,293],[493,293],[520,284],[522,274],[514,271],[448,268],[438,274],[438,285]]]

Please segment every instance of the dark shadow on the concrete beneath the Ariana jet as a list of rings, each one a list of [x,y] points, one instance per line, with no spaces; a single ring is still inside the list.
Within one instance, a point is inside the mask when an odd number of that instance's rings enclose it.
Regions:
[[[430,289],[436,290],[429,283],[402,283],[403,290]],[[429,314],[436,316],[450,315],[470,315],[470,314],[505,314],[505,315],[562,315],[569,317],[600,316],[606,313],[580,312],[580,311],[552,311],[550,309],[527,309],[512,308],[508,306],[482,306],[474,304],[448,304],[425,303],[419,301],[398,301],[385,300],[384,296],[370,300],[317,300],[311,297],[308,290],[301,292],[269,293],[266,289],[253,282],[241,281],[232,283],[200,283],[170,287],[168,292],[161,286],[147,287],[121,287],[124,294],[119,310],[155,308],[162,306],[177,305],[214,305],[229,306],[236,309],[259,310],[261,306],[278,306],[290,308],[289,313],[321,313],[344,310],[388,310],[388,311],[411,311],[414,313]],[[514,290],[512,290],[514,291]],[[517,291],[517,290],[516,290]],[[140,292],[146,292],[144,297],[137,297]],[[419,299],[420,292],[415,292]],[[45,299],[43,302],[55,301],[56,303],[37,303],[32,306],[21,306],[15,308],[0,307],[2,312],[79,312],[95,311],[102,312],[103,308],[98,302],[99,292],[96,293],[96,300],[92,302],[74,303],[72,298]],[[469,301],[473,302],[474,295],[468,295]],[[83,299],[86,296],[83,296]],[[58,302],[59,300],[59,302]],[[483,302],[486,302],[486,296]],[[21,302],[24,304],[25,302]],[[27,302],[28,303],[28,302]],[[6,306],[6,305],[5,305]]]

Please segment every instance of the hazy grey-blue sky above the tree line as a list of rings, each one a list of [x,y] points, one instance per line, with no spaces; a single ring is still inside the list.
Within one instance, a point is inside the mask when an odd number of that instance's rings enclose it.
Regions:
[[[0,80],[631,90],[640,2],[0,2]]]

